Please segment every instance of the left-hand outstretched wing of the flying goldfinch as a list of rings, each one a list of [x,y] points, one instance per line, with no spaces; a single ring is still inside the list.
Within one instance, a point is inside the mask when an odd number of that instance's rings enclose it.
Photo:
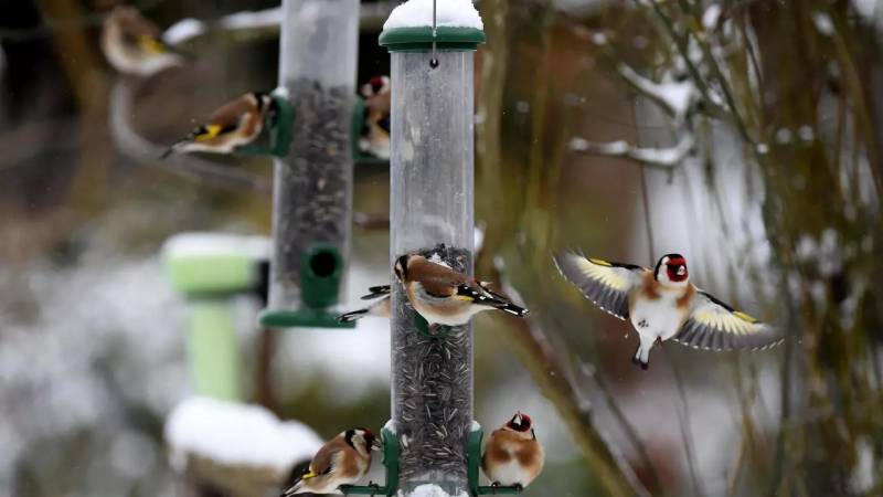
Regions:
[[[635,264],[586,258],[573,252],[555,256],[555,265],[565,279],[576,285],[596,306],[628,319],[628,298],[650,269]]]

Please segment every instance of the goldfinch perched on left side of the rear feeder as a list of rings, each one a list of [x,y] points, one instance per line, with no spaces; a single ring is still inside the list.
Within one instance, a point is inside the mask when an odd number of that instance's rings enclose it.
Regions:
[[[257,139],[264,119],[273,112],[275,103],[268,93],[246,93],[212,113],[206,124],[169,147],[162,158],[173,152],[232,154]]]

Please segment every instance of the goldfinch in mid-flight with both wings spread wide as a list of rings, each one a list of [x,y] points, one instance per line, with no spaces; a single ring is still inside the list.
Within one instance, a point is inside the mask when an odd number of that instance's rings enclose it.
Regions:
[[[555,264],[596,306],[631,322],[640,339],[632,362],[643,369],[653,345],[670,338],[705,350],[765,349],[781,341],[778,329],[691,284],[680,254],[663,255],[653,271],[571,252],[555,256]]]

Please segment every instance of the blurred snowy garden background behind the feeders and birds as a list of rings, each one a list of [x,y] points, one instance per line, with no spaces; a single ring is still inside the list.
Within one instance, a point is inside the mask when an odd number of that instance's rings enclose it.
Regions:
[[[191,64],[131,85],[127,109],[98,47],[115,4],[19,0],[0,14],[0,495],[180,495],[163,426],[194,388],[163,243],[269,233],[269,159],[162,163],[109,123],[123,113],[170,144],[275,87],[278,25],[212,21],[278,3],[135,2],[162,29],[216,29],[183,44]],[[363,4],[360,84],[389,71],[376,36],[392,7]],[[534,419],[547,462],[525,495],[883,495],[883,4],[477,8],[476,272],[532,314],[476,319],[476,419]],[[386,168],[358,166],[353,199],[354,299],[389,272]],[[696,285],[787,340],[670,342],[641,371],[629,327],[558,276],[562,248],[642,265],[684,254]],[[274,334],[256,328],[260,305],[244,293],[231,307],[258,417],[321,438],[386,422],[386,321]]]

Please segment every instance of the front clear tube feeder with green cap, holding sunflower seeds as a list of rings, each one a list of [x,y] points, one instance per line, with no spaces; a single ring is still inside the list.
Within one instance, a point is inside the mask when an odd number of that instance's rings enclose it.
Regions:
[[[380,35],[392,59],[391,268],[400,256],[419,253],[472,273],[472,56],[485,33],[471,2],[451,3],[470,9],[476,25],[434,29],[432,19],[394,20],[394,11]],[[421,332],[422,318],[401,285],[393,285],[391,320],[400,489],[408,495],[435,484],[460,495],[468,491],[471,327]]]

